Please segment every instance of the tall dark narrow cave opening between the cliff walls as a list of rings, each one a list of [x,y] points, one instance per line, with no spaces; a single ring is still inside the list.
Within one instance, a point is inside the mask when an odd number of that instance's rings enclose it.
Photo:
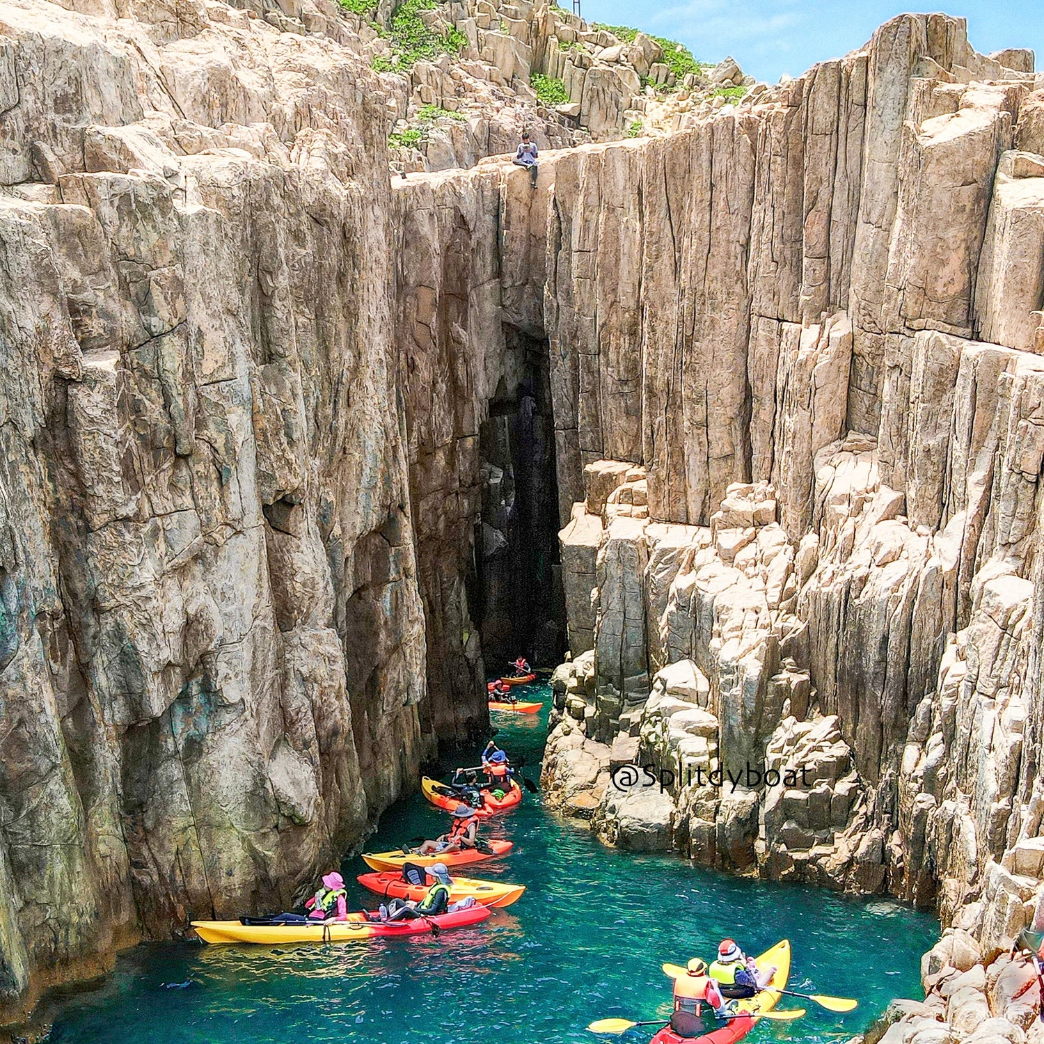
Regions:
[[[479,433],[482,508],[469,591],[488,674],[519,656],[554,666],[566,650],[548,345],[509,327],[505,337],[508,375]]]

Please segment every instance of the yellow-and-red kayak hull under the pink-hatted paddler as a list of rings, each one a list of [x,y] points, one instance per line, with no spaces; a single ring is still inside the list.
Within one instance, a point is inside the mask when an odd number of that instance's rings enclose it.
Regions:
[[[490,916],[490,907],[476,904],[468,909],[416,921],[390,924],[367,922],[362,914],[349,914],[347,921],[327,924],[240,924],[238,921],[193,921],[196,934],[207,943],[252,943],[274,946],[287,943],[358,943],[398,935],[424,935],[432,924],[441,930],[467,928]]]

